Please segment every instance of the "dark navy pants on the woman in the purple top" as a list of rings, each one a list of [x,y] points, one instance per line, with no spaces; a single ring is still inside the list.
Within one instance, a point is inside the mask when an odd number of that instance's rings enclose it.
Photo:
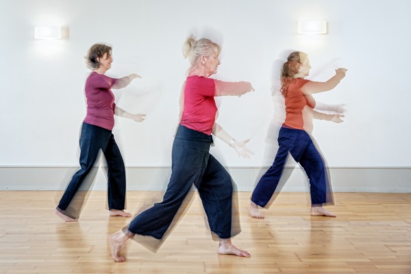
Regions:
[[[103,151],[108,166],[108,208],[123,210],[125,206],[125,166],[112,132],[97,125],[83,123],[80,135],[80,166],[73,175],[58,210],[66,210],[82,182],[91,171],[99,151]]]

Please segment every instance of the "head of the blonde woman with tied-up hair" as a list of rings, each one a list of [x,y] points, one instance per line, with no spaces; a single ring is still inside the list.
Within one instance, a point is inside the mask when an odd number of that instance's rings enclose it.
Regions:
[[[183,45],[184,58],[188,58],[192,67],[206,66],[210,73],[216,73],[220,64],[221,47],[207,38],[196,40],[194,36],[187,38]]]

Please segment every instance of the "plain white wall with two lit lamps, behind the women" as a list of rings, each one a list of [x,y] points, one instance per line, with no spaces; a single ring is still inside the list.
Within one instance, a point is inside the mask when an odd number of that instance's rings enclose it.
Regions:
[[[314,136],[332,167],[410,167],[411,3],[403,0],[0,0],[2,54],[0,166],[76,166],[86,114],[84,55],[95,42],[113,47],[108,75],[142,75],[116,92],[116,103],[147,113],[144,123],[116,119],[114,134],[127,166],[169,166],[178,97],[188,69],[188,34],[221,43],[218,79],[246,80],[256,92],[219,100],[219,123],[237,139],[251,138],[251,160],[222,142],[212,153],[226,166],[258,167],[266,131],[276,115],[271,100],[275,60],[306,51],[312,79],[349,69],[332,92],[345,103],[341,124],[314,122]],[[297,21],[328,21],[329,34],[301,36]],[[36,25],[62,25],[69,38],[34,40]]]

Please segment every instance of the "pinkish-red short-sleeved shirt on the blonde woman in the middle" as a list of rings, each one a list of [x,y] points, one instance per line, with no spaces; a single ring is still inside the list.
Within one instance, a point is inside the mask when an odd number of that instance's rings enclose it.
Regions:
[[[216,120],[214,79],[192,75],[184,86],[184,111],[180,125],[211,135]]]

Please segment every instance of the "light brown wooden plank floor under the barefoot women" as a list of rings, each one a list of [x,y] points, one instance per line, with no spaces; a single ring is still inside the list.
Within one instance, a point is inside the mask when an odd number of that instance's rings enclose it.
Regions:
[[[284,192],[266,219],[251,219],[240,192],[242,233],[251,258],[219,256],[196,195],[157,253],[127,242],[114,263],[106,236],[129,219],[109,217],[105,192],[92,192],[79,223],[55,216],[62,192],[0,192],[0,273],[411,273],[411,194],[334,193],[336,219],[310,217],[308,194]],[[128,192],[130,212],[156,192]]]

